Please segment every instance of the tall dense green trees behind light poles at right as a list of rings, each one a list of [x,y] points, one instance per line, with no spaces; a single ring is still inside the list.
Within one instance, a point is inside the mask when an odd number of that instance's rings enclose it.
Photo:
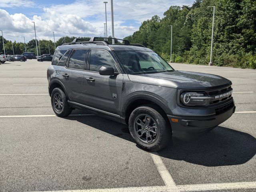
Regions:
[[[210,61],[212,13],[215,6],[213,62],[217,66],[256,68],[256,1],[196,0],[190,6],[171,6],[164,17],[142,22],[125,39],[151,48],[170,61],[208,64]]]

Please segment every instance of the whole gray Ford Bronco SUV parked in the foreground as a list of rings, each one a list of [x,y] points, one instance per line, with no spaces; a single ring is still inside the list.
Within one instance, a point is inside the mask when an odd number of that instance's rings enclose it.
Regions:
[[[137,144],[150,151],[171,137],[207,132],[235,111],[231,81],[174,70],[140,45],[92,38],[58,46],[47,71],[57,116],[74,109],[128,124]]]

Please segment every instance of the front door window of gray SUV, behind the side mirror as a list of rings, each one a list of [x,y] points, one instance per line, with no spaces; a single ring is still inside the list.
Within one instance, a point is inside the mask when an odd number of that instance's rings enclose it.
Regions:
[[[91,50],[90,71],[98,72],[102,66],[112,66],[117,72],[115,62],[107,51]]]

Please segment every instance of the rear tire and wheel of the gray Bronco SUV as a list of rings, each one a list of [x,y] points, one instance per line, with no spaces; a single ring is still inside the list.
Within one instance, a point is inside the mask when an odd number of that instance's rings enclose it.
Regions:
[[[68,99],[65,93],[60,88],[54,88],[54,90],[52,90],[51,103],[52,103],[52,109],[56,114],[56,116],[58,117],[66,117],[70,115],[70,113],[72,112],[72,110],[70,109],[70,106],[68,105]],[[56,103],[57,103],[57,106],[55,106]],[[61,104],[62,104],[62,107],[61,107]]]

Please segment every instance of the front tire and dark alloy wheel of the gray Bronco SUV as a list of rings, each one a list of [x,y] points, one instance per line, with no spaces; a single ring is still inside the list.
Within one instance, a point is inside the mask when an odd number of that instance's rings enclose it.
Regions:
[[[147,120],[150,118],[150,123],[148,124],[146,122],[146,116]],[[141,129],[142,131],[138,131],[142,128],[142,125],[138,125],[136,122],[145,126]],[[129,117],[128,125],[132,138],[145,150],[162,150],[172,141],[170,123],[166,118],[164,118],[164,112],[153,104],[139,106],[134,109]],[[138,133],[136,133],[137,131]],[[154,135],[153,132],[156,132],[156,135]],[[152,140],[150,141],[148,138]]]

